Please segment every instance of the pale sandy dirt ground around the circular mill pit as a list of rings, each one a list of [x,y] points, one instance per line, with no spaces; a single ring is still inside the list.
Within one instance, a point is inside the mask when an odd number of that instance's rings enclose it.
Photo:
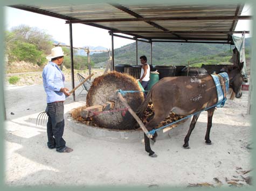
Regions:
[[[71,89],[71,83],[66,84]],[[250,115],[246,114],[247,99],[248,91],[243,91],[240,99],[227,100],[223,108],[217,108],[210,134],[212,145],[204,143],[207,112],[203,112],[188,150],[182,148],[188,127],[171,129],[169,138],[151,146],[157,158],[148,157],[141,140],[105,141],[81,136],[65,127],[66,145],[74,151],[58,153],[47,148],[46,124],[36,126],[37,116],[46,106],[43,86],[6,85],[5,183],[52,187],[251,187],[252,129]],[[73,97],[67,98],[65,117],[85,101],[85,91],[75,102]]]

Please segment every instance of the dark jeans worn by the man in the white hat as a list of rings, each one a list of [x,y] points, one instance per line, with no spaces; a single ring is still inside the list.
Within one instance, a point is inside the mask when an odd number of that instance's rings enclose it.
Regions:
[[[46,114],[48,115],[47,122],[47,146],[50,149],[56,147],[57,151],[65,149],[65,140],[62,138],[64,133],[64,104],[63,102],[53,102],[47,104]]]

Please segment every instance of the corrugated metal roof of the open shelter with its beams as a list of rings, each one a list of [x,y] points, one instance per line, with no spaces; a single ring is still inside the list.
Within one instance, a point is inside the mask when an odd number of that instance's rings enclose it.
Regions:
[[[231,35],[239,19],[243,4],[54,4],[12,5],[12,8],[45,14],[123,33],[149,41],[184,41],[233,43]],[[248,31],[246,32],[248,33]]]

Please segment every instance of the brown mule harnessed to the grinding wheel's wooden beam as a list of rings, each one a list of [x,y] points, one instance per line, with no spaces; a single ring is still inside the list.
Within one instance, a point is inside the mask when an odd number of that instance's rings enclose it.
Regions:
[[[244,63],[240,63],[238,67],[237,65],[232,65],[232,67],[228,68],[226,71],[229,75],[229,87],[235,92],[236,98],[242,96],[241,84],[243,82],[243,76],[241,75],[241,69],[243,69],[243,65]],[[224,86],[224,84],[225,83],[222,85]],[[174,112],[178,115],[191,115],[199,112],[193,115],[188,134],[185,136],[183,147],[186,149],[189,148],[189,137],[192,130],[195,128],[200,111],[215,105],[218,101],[216,85],[211,75],[162,78],[152,87],[147,98],[138,108],[137,114],[139,116],[143,114],[150,100],[153,102],[155,115],[153,119],[146,124],[148,131],[154,129],[170,112]],[[206,144],[211,144],[210,130],[214,111],[215,107],[207,110]],[[152,138],[153,141],[155,141],[156,137],[157,134],[155,133]],[[146,135],[144,135],[144,144],[145,150],[149,153],[149,156],[156,157],[157,155],[151,150],[150,140]]]

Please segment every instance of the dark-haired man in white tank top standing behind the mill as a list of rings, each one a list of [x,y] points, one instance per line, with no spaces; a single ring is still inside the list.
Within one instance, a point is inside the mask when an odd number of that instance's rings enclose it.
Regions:
[[[142,68],[141,68],[141,77],[140,77],[140,83],[144,90],[148,87],[149,83],[149,75],[150,75],[150,67],[147,64],[147,57],[141,56],[140,57]],[[144,92],[144,97],[146,97],[146,93]]]

